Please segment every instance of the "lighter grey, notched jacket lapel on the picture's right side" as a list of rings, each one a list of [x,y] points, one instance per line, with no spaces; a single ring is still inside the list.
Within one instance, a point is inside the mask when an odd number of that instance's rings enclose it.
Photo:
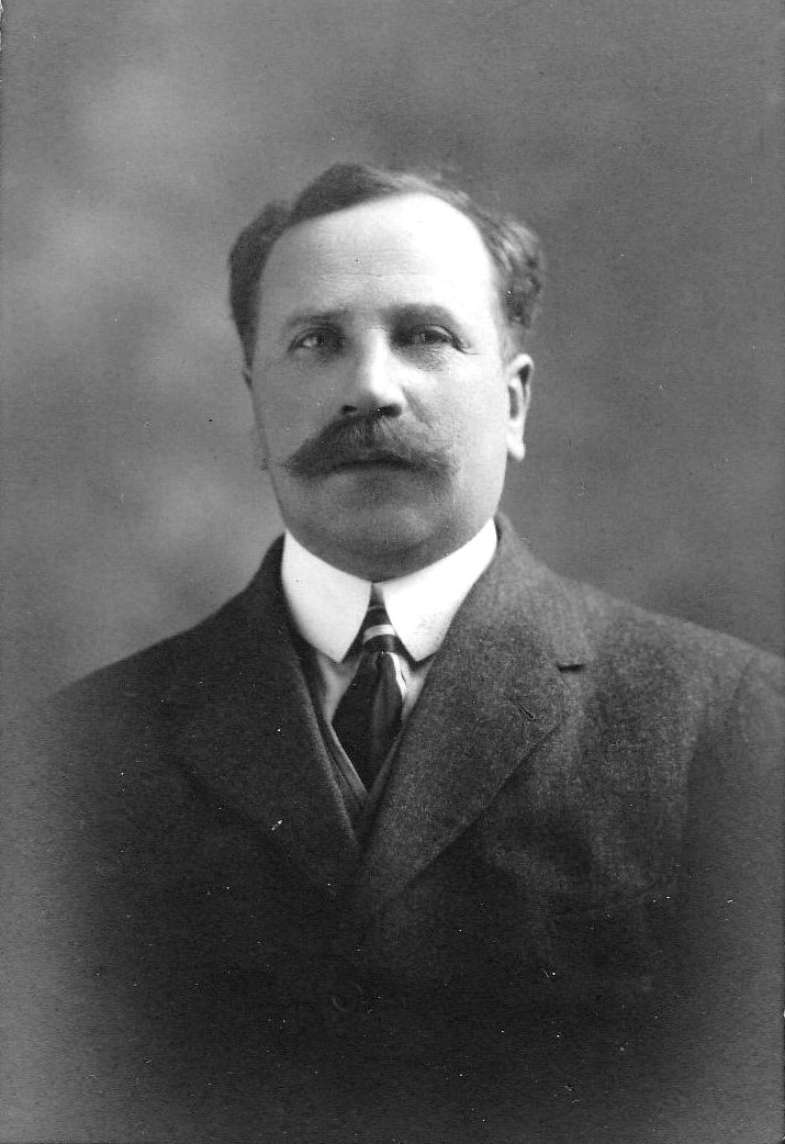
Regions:
[[[569,597],[499,521],[497,557],[453,620],[401,742],[355,890],[373,915],[450,845],[565,717],[587,658]]]

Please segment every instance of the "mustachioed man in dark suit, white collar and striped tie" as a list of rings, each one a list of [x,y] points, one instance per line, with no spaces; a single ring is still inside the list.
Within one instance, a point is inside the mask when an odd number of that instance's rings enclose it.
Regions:
[[[231,279],[286,534],[21,748],[19,980],[70,1093],[42,1122],[764,1138],[780,665],[561,580],[495,516],[533,236],[339,166]]]

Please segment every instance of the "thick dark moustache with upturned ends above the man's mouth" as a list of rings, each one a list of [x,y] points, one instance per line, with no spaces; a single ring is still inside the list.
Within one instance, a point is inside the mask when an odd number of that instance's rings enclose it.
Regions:
[[[431,430],[378,413],[334,421],[303,442],[284,468],[295,477],[314,479],[363,463],[399,466],[434,477],[455,471],[447,443],[436,439]]]

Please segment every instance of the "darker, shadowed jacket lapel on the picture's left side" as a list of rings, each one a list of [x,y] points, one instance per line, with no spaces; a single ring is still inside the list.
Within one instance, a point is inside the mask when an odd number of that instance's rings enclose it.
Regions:
[[[174,754],[219,812],[244,816],[330,896],[359,848],[288,626],[280,542],[249,587],[187,637],[165,705]]]

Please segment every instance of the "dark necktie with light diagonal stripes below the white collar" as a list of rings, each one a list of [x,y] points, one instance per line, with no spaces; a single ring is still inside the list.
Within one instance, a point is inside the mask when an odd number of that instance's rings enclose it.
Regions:
[[[363,654],[338,705],[333,728],[366,787],[401,731],[406,683],[403,648],[384,605],[371,602],[360,629]]]

